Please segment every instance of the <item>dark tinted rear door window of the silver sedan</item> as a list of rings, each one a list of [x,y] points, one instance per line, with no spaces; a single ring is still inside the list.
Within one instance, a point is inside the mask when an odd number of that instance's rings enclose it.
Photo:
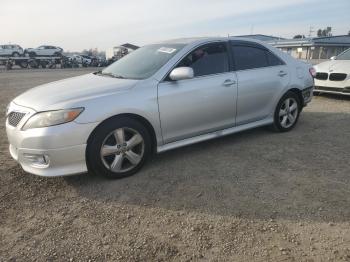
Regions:
[[[232,50],[236,70],[262,68],[283,64],[278,57],[276,57],[270,51],[262,48],[233,45]]]

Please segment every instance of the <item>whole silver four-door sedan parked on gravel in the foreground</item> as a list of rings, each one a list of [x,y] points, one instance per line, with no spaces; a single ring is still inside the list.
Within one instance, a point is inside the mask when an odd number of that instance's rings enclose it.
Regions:
[[[312,98],[312,73],[250,39],[147,45],[100,72],[15,98],[6,118],[10,153],[41,176],[129,176],[153,152],[265,125],[291,130]]]

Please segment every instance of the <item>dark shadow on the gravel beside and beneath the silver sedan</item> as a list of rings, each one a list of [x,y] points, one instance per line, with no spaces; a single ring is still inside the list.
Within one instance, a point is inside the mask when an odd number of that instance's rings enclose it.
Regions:
[[[66,177],[95,201],[251,219],[350,219],[350,114],[304,112],[292,132],[267,128],[153,157],[136,175]]]

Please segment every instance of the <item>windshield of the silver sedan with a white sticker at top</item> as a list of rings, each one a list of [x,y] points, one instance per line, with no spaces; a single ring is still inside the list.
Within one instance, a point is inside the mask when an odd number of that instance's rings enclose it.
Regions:
[[[145,79],[157,72],[184,44],[155,44],[137,49],[105,68],[101,74]]]

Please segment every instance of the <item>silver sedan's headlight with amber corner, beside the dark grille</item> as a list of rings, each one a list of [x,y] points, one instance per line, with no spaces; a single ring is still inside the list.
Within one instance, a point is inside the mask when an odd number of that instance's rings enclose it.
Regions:
[[[84,108],[39,112],[24,124],[22,130],[64,124],[76,119]]]

